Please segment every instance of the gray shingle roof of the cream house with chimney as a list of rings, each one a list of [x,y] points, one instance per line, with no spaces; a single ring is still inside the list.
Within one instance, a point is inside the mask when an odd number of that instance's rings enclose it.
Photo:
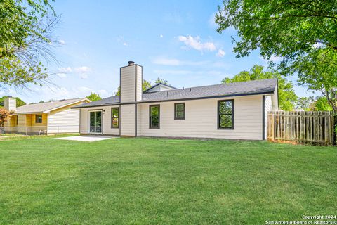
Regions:
[[[230,84],[215,84],[209,86],[196,86],[192,88],[176,89],[169,91],[159,91],[154,93],[143,93],[142,100],[138,103],[173,101],[193,98],[216,98],[225,96],[243,96],[253,94],[267,94],[275,91],[277,79],[259,79],[249,82],[236,82]],[[114,105],[119,103],[119,96],[104,98],[78,105],[74,108]]]

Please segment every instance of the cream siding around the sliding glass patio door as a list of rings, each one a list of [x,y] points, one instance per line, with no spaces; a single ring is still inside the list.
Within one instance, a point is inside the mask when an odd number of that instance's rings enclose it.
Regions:
[[[119,105],[105,106],[105,107],[93,107],[93,108],[81,108],[81,121],[80,121],[80,133],[88,134],[88,110],[103,110],[102,134],[107,135],[119,135],[119,128],[111,128],[111,108],[119,108]],[[119,120],[121,114],[119,113]],[[120,121],[119,121],[120,122]]]

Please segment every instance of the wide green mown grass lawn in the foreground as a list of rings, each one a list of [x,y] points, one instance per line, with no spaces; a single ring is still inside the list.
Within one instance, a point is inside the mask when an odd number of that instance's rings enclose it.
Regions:
[[[336,214],[337,148],[0,141],[0,224],[265,224]]]

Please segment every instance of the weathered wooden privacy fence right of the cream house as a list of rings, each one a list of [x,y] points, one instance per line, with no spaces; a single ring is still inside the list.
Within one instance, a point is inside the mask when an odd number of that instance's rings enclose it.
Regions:
[[[333,111],[269,112],[267,139],[318,146],[335,146],[335,114]]]

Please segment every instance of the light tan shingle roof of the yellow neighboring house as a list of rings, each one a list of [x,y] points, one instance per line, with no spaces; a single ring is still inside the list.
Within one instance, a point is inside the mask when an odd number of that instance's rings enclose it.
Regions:
[[[72,98],[72,99],[65,99],[59,101],[51,101],[48,103],[33,103],[29,105],[23,105],[16,108],[15,113],[43,113],[49,110],[53,110],[55,108],[60,108],[63,105],[71,105],[72,103],[77,103],[79,101],[84,101],[87,98]]]

